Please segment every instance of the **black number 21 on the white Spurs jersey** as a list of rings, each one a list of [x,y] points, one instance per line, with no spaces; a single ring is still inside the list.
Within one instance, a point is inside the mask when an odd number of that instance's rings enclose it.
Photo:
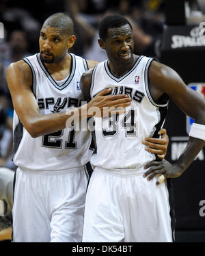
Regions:
[[[49,133],[42,136],[42,146],[61,149],[62,142],[61,136],[63,136],[64,130],[55,131],[54,133]],[[74,129],[69,129],[68,141],[65,142],[65,149],[77,149],[77,142],[74,141],[75,131]]]

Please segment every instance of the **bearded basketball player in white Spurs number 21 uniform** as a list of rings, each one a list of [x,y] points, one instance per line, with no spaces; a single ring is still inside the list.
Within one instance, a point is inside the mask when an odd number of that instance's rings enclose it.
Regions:
[[[81,106],[81,75],[96,62],[68,53],[74,41],[72,20],[62,13],[53,14],[40,31],[40,53],[11,64],[7,71],[15,110],[14,163],[18,166],[14,242],[81,242],[86,168],[93,153],[91,133],[65,129],[66,120],[75,112],[83,120],[85,107],[89,112],[93,106],[103,110],[104,106],[131,104],[126,94],[105,96],[111,92],[106,89]],[[66,114],[71,106],[75,109]],[[167,144],[160,144],[153,150],[163,157]]]

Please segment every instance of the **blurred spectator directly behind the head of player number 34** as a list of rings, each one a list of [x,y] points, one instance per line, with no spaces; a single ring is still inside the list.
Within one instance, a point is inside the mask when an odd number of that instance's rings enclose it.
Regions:
[[[88,19],[87,16],[83,14],[83,8],[85,8],[85,5],[82,7],[81,1],[68,0],[67,3],[66,11],[74,21],[77,34],[81,36],[81,40],[79,40],[79,38],[77,39],[77,42],[80,42],[82,51],[81,55],[83,55],[87,60],[96,60],[101,62],[107,59],[105,51],[100,49],[98,46],[98,24],[103,17],[109,14],[122,14],[128,19],[128,21],[130,21],[133,26],[135,53],[138,55],[149,54],[150,56],[155,57],[155,40],[150,34],[143,31],[131,16],[131,1],[112,1],[107,5],[107,8],[104,9],[105,12],[100,12],[97,15],[93,14],[92,20]],[[134,3],[132,3],[132,6],[137,6],[136,4],[133,4]],[[111,7],[108,8],[108,6]],[[81,42],[83,42],[83,44]],[[84,49],[82,49],[82,45],[84,46]]]

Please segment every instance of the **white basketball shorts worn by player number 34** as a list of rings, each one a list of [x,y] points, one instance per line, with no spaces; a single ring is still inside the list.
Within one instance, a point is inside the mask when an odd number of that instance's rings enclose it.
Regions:
[[[166,182],[145,170],[96,167],[85,199],[83,242],[172,242]]]

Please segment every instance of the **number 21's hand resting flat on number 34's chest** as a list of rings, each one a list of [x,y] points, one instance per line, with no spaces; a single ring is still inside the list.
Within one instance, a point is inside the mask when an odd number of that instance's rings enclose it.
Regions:
[[[87,116],[106,117],[125,112],[125,108],[131,105],[132,99],[126,94],[107,95],[111,90],[111,88],[102,90],[90,103],[87,103]]]

